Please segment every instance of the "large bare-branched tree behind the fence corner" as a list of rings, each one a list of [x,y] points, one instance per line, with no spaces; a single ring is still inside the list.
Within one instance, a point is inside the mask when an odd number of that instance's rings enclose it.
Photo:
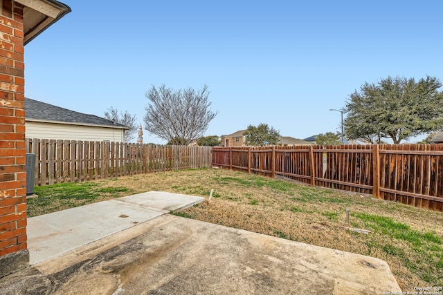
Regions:
[[[145,129],[168,142],[186,145],[201,137],[208,124],[217,115],[210,110],[208,86],[195,91],[189,87],[174,91],[163,84],[152,86],[145,96],[150,104],[145,107]]]

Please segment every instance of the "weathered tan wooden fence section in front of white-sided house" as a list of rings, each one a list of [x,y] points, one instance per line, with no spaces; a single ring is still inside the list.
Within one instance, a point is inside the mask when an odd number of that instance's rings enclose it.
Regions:
[[[35,186],[211,166],[210,146],[26,139],[34,153]]]

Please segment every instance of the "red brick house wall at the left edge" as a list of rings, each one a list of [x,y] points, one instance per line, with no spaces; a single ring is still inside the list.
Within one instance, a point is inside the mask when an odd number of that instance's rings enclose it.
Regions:
[[[0,14],[0,264],[26,252],[26,150],[23,6],[3,0]],[[1,5],[1,4],[0,4]],[[20,259],[19,259],[20,260]],[[14,272],[15,265],[7,260]],[[3,263],[3,265],[5,265]],[[21,265],[21,266],[20,266]]]

